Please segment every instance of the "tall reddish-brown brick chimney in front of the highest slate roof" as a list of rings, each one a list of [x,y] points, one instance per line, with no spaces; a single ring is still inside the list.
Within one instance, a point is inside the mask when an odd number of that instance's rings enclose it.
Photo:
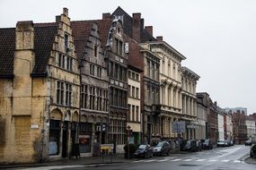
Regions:
[[[141,13],[132,13],[132,38],[140,42]]]

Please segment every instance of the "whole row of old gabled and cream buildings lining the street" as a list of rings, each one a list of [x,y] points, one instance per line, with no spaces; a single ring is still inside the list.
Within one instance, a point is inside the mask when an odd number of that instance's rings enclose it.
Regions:
[[[232,139],[230,115],[141,13],[71,21],[64,8],[0,37],[0,163],[71,157],[75,143],[91,157],[103,143]]]

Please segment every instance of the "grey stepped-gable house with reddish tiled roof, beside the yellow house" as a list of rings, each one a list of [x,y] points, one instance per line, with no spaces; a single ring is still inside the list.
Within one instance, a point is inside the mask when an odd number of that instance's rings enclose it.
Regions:
[[[107,143],[109,76],[97,22],[72,21],[81,76],[80,153],[92,156],[95,143]]]

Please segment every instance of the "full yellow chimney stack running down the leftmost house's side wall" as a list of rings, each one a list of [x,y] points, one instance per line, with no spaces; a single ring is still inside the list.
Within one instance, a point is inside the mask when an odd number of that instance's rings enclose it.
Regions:
[[[13,57],[13,115],[31,115],[32,79],[34,67],[34,27],[32,21],[16,24]]]

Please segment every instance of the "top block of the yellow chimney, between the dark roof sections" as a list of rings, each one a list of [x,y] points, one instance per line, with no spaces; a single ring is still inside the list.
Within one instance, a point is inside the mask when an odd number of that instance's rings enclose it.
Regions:
[[[32,50],[34,48],[33,21],[18,21],[16,24],[16,50]]]

